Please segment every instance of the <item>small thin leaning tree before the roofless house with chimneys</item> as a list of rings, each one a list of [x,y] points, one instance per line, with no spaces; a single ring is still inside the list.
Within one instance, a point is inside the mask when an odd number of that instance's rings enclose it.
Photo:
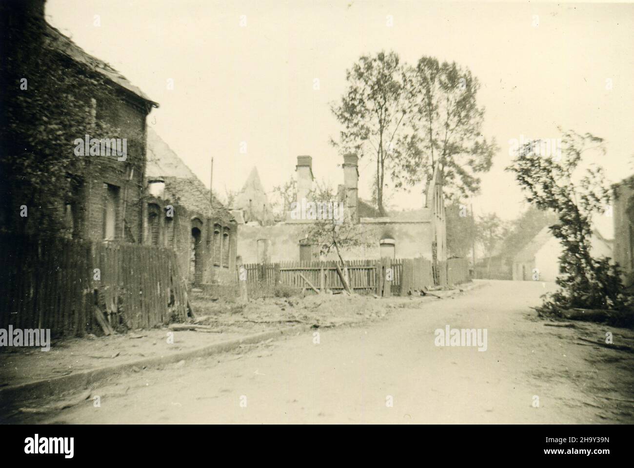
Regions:
[[[316,184],[316,188],[311,192],[310,199],[315,200],[316,209],[321,207],[332,206],[332,212],[336,216],[321,216],[319,219],[311,223],[311,227],[307,233],[307,240],[313,245],[319,247],[320,255],[328,255],[334,252],[339,258],[340,270],[338,273],[344,285],[344,289],[351,293],[348,269],[344,252],[356,247],[370,245],[366,240],[366,231],[363,230],[361,224],[355,223],[351,213],[344,209],[344,204],[337,200],[329,186],[325,184]]]

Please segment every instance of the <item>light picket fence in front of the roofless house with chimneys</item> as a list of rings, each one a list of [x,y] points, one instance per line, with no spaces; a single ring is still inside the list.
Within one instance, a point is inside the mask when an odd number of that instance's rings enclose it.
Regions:
[[[344,289],[335,261],[287,261],[251,263],[247,270],[247,287],[256,289],[277,285],[295,290]],[[347,262],[349,285],[360,294],[404,296],[415,290],[434,286],[432,263],[424,258],[352,260]],[[391,275],[388,273],[391,268]],[[469,281],[466,259],[439,262],[439,285],[454,285]],[[388,279],[388,278],[391,278]]]

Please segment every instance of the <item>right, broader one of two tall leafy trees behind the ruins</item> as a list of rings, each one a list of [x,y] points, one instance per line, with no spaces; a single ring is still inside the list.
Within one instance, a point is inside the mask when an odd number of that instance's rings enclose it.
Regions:
[[[440,162],[445,196],[459,200],[477,193],[477,174],[491,169],[495,139],[482,135],[484,107],[477,103],[479,81],[455,62],[424,56],[408,69],[408,132],[399,135],[396,187],[429,183]]]

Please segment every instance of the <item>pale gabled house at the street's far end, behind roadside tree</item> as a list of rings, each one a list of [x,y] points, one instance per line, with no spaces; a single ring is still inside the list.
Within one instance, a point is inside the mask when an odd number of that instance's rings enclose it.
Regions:
[[[592,238],[592,255],[595,257],[612,257],[612,243],[598,231]],[[553,237],[548,227],[543,228],[524,249],[515,255],[513,260],[513,279],[520,281],[555,281],[560,275],[559,256],[562,246]]]

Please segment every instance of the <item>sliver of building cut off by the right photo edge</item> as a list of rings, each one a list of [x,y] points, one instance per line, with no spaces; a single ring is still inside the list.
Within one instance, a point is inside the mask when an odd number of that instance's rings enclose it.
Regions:
[[[624,285],[634,283],[634,176],[612,186],[614,261],[623,272]]]

